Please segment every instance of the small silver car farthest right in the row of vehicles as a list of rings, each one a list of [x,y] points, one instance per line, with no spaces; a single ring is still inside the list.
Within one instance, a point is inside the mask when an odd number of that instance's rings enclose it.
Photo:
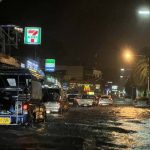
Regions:
[[[99,105],[112,105],[113,104],[113,100],[111,98],[110,95],[102,95],[99,98]]]

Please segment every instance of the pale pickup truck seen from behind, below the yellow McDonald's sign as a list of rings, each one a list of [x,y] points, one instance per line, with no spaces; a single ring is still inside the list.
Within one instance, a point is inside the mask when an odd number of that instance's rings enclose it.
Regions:
[[[93,106],[94,99],[93,95],[83,94],[77,96],[74,100],[74,106]]]

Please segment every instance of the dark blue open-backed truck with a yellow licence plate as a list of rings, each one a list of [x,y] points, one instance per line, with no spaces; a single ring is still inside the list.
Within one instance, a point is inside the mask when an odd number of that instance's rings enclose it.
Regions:
[[[0,69],[0,125],[45,121],[42,84],[28,69]]]

